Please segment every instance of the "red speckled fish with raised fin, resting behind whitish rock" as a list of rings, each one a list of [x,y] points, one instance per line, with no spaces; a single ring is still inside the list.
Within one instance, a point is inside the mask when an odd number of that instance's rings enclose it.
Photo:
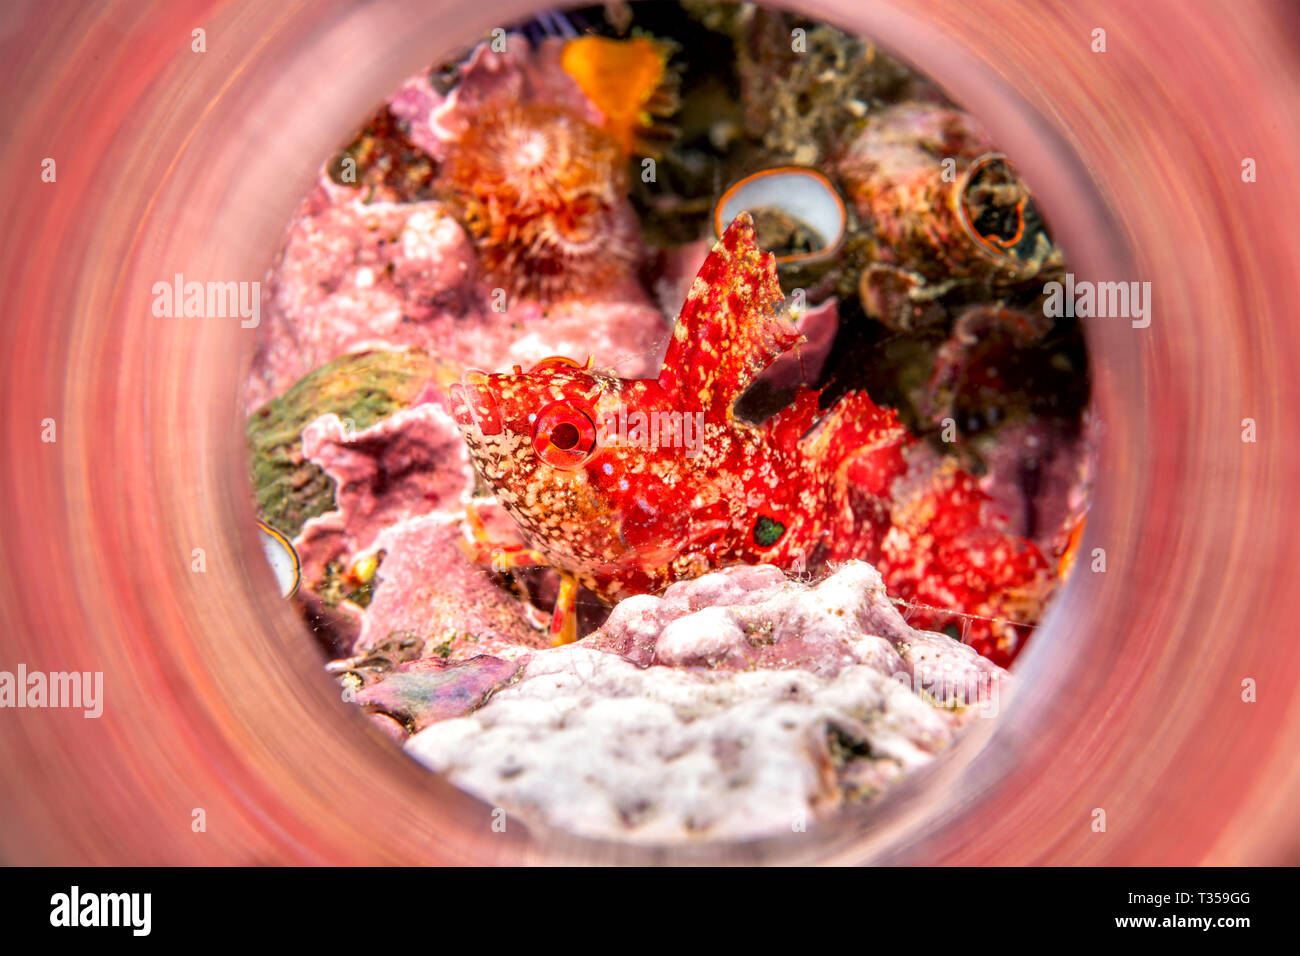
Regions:
[[[696,277],[658,377],[547,359],[452,388],[478,473],[530,558],[562,572],[558,641],[573,637],[577,584],[614,602],[727,564],[880,559],[914,441],[894,412],[864,392],[822,410],[810,388],[760,424],[734,412],[798,341],[742,213]]]

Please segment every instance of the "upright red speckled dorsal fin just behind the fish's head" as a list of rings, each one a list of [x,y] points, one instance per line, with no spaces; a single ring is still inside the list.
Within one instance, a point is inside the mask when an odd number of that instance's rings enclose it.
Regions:
[[[776,260],[742,212],[699,267],[677,316],[659,385],[682,407],[731,414],[754,378],[801,336],[779,308]]]

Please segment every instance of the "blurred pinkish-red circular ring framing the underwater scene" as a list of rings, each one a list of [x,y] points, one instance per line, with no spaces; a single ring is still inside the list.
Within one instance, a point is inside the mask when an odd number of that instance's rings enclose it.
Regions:
[[[1104,425],[1075,574],[976,722],[879,804],[758,843],[491,830],[341,700],[263,566],[235,401],[252,333],[155,319],[261,280],[321,159],[407,75],[538,4],[129,0],[0,13],[9,368],[0,666],[104,672],[104,715],[0,721],[13,864],[1247,864],[1300,857],[1297,16],[1176,0],[792,4],[937,81],[1080,276]],[[190,49],[207,31],[207,52]],[[1092,52],[1095,29],[1108,49]],[[1290,44],[1290,46],[1288,46]],[[21,91],[21,99],[14,98]],[[57,182],[40,181],[44,157]],[[1258,181],[1244,183],[1253,157]],[[52,418],[57,441],[40,441]],[[1242,441],[1242,420],[1258,425]],[[205,570],[192,570],[195,548]],[[1089,570],[1092,549],[1106,571]],[[1242,700],[1242,682],[1257,700]],[[1092,813],[1106,810],[1105,832]],[[203,809],[205,831],[191,830]]]

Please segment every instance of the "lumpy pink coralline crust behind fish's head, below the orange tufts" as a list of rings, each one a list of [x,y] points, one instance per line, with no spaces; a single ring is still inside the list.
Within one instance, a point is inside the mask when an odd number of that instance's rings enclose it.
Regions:
[[[333,183],[299,209],[264,295],[248,408],[367,347],[421,347],[481,368],[592,354],[645,375],[668,333],[629,276],[589,290],[585,302],[507,300],[442,203],[367,204]]]

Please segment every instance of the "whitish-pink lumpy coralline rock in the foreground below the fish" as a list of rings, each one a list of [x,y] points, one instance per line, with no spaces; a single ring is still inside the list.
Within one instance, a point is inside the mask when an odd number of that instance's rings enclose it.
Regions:
[[[624,601],[407,749],[530,825],[753,839],[875,796],[1009,685],[970,648],[910,628],[870,564],[816,587],[733,567]]]

